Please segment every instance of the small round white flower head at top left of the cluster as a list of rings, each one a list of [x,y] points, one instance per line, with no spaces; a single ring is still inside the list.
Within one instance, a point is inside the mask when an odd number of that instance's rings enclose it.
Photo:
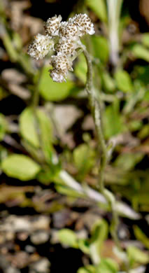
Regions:
[[[58,36],[59,35],[59,27],[61,25],[62,16],[55,15],[52,18],[49,18],[47,22],[45,22],[45,32],[50,36]]]

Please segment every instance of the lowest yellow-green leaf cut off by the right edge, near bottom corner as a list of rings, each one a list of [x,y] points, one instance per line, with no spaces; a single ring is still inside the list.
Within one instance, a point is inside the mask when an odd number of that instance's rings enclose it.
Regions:
[[[149,261],[148,253],[141,251],[141,249],[136,248],[136,246],[128,246],[127,252],[129,259],[134,262],[146,264]]]

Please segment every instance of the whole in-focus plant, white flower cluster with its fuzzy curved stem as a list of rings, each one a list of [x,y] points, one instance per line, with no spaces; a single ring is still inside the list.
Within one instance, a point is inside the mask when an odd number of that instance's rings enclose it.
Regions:
[[[34,41],[29,45],[28,54],[35,59],[43,59],[50,52],[50,77],[57,83],[66,81],[69,71],[73,71],[73,60],[80,55],[81,52],[85,55],[87,62],[87,80],[85,90],[90,102],[90,109],[97,132],[97,143],[99,151],[101,151],[98,186],[101,194],[104,196],[113,213],[111,223],[111,236],[117,247],[117,253],[123,257],[126,272],[129,272],[128,259],[125,251],[123,251],[118,239],[118,209],[115,196],[110,190],[107,190],[104,185],[105,168],[110,160],[113,147],[107,145],[104,139],[104,132],[101,123],[101,103],[99,96],[93,85],[92,80],[92,58],[85,45],[80,38],[84,35],[94,34],[94,25],[87,14],[77,14],[68,21],[63,22],[62,16],[55,15],[45,22],[45,35],[37,34]],[[65,177],[66,178],[66,177]],[[68,178],[68,177],[67,177]],[[80,186],[78,186],[80,189]]]

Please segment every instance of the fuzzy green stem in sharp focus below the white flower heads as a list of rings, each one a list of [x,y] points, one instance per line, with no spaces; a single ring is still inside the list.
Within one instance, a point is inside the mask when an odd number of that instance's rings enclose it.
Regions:
[[[97,98],[97,95],[93,87],[92,60],[90,59],[90,55],[85,48],[83,48],[83,53],[85,55],[85,59],[87,62],[86,91],[89,97],[91,112],[94,118],[94,123],[97,130],[98,142],[101,149],[101,162],[100,162],[100,168],[99,168],[99,189],[101,191],[101,194],[103,194],[104,197],[106,198],[108,204],[111,207],[111,211],[113,213],[113,221],[111,223],[111,235],[119,251],[123,252],[120,246],[120,241],[118,239],[119,219],[118,219],[118,211],[116,210],[116,200],[113,193],[107,190],[104,186],[104,172],[105,172],[106,164],[108,162],[108,149],[106,147],[106,141],[104,139],[104,132],[103,132],[102,124],[101,124],[101,104]]]

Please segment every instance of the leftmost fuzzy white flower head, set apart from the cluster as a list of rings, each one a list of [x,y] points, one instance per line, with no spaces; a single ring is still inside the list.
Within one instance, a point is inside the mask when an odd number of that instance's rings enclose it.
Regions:
[[[50,50],[54,49],[54,42],[48,35],[37,34],[29,45],[28,54],[35,59],[43,59]]]

